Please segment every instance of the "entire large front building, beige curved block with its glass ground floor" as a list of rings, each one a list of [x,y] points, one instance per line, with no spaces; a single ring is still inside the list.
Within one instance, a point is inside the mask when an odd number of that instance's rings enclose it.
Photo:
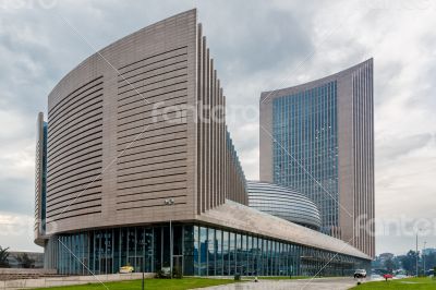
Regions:
[[[320,269],[315,253],[338,261],[331,275],[368,265],[337,239],[284,220],[271,228],[274,217],[246,206],[214,68],[191,10],[109,45],[59,82],[48,96],[47,198],[37,200],[46,267],[310,275]],[[263,222],[239,220],[235,208]],[[265,267],[253,263],[262,258]]]

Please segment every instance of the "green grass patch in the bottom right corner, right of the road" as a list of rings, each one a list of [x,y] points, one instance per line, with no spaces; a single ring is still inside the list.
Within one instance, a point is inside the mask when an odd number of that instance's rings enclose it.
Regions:
[[[377,289],[419,289],[419,290],[436,290],[436,280],[432,278],[405,278],[398,280],[374,281],[362,283],[351,288],[352,290],[377,290]]]

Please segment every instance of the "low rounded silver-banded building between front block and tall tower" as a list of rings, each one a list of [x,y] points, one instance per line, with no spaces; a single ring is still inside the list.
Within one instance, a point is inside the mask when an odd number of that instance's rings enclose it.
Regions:
[[[289,188],[267,182],[247,181],[249,206],[269,215],[320,229],[319,210],[305,195]]]

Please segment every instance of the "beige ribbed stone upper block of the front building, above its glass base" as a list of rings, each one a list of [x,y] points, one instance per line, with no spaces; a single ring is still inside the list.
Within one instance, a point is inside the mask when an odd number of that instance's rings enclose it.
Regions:
[[[225,121],[196,111],[225,97],[195,22],[184,13],[126,36],[51,92],[47,233],[192,220],[226,197],[246,204]]]

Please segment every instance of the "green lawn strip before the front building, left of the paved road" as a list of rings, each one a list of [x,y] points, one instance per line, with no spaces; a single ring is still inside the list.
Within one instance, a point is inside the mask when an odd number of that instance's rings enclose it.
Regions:
[[[208,278],[183,278],[183,279],[145,279],[145,289],[147,290],[185,290],[193,288],[202,288],[209,286],[233,283],[233,279],[208,279]],[[141,289],[142,280],[129,280],[118,282],[105,282],[109,289],[120,290],[138,290]],[[86,290],[86,289],[101,289],[106,288],[101,283],[87,283],[87,285],[75,285],[75,286],[61,286],[50,288],[38,288],[41,289],[65,289],[65,290]]]

